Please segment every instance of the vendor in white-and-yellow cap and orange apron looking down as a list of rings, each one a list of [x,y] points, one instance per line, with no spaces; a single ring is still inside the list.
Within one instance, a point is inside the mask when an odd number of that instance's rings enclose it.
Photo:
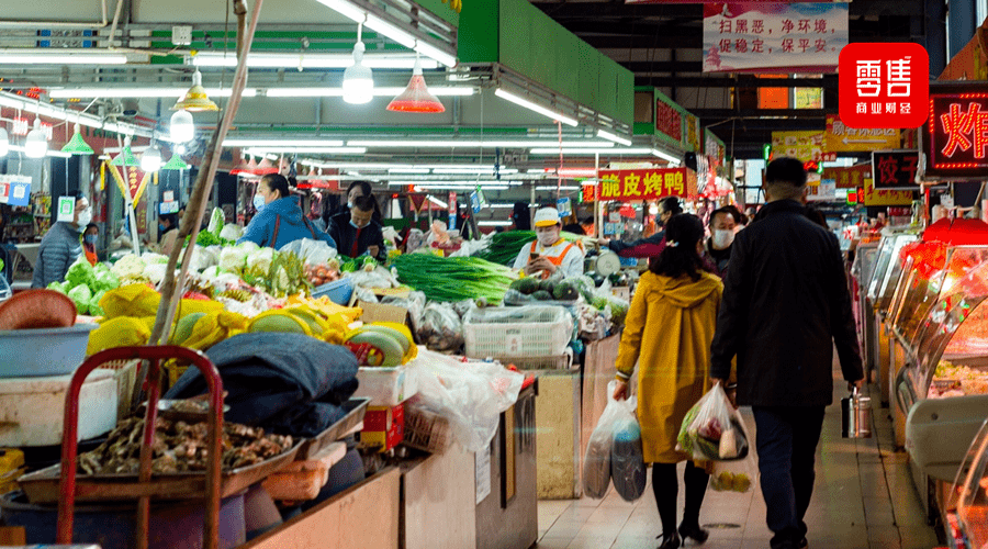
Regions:
[[[526,274],[541,271],[542,278],[549,278],[557,270],[562,270],[568,278],[583,274],[583,249],[559,236],[562,232],[559,211],[554,208],[537,211],[535,231],[537,238],[521,246],[515,259],[516,269],[525,270]]]

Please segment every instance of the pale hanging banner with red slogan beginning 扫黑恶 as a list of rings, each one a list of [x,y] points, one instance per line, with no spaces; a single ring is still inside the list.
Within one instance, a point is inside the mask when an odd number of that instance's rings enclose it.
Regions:
[[[834,72],[847,45],[847,4],[704,5],[704,72]]]

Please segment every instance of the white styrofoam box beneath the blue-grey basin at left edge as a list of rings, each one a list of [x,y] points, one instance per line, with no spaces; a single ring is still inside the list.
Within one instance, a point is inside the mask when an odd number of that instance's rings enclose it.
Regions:
[[[117,390],[113,370],[97,369],[79,392],[79,440],[116,425]],[[0,379],[0,446],[61,444],[65,394],[71,376]]]

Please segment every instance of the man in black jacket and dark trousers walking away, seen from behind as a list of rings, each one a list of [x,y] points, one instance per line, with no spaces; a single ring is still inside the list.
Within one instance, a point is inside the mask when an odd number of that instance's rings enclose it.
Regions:
[[[807,546],[834,345],[849,388],[864,377],[840,246],[806,217],[805,191],[799,160],[768,165],[768,203],[734,238],[711,351],[710,377],[721,383],[738,357],[738,404],[754,412],[773,549]]]

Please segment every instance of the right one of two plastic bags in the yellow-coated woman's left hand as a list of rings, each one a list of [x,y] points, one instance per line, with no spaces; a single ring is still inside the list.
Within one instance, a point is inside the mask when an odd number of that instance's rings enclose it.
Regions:
[[[610,390],[609,394],[614,394]],[[626,502],[641,497],[645,488],[645,464],[641,449],[641,426],[635,417],[637,397],[616,403],[619,408],[614,424],[614,444],[610,447],[610,478],[614,489]]]

